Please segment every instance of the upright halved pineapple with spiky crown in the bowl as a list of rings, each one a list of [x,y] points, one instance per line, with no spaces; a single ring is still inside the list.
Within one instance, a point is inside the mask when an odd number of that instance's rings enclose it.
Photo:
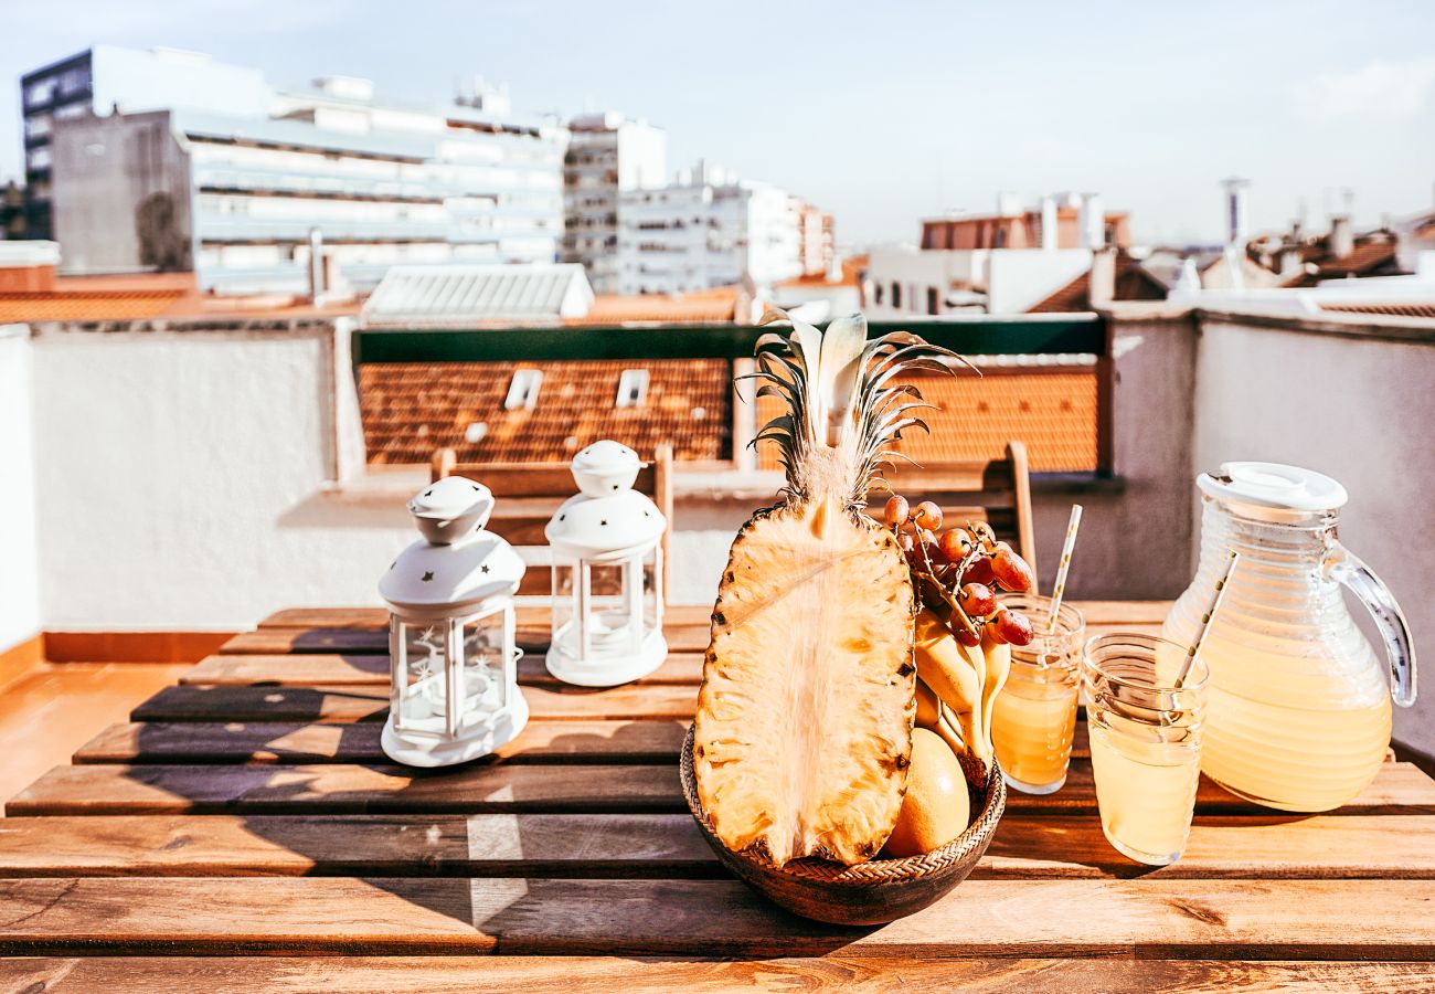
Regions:
[[[788,319],[781,312],[771,319]],[[913,589],[891,533],[861,513],[920,398],[887,382],[946,371],[911,335],[867,340],[860,315],[824,335],[765,335],[761,394],[788,414],[784,501],[733,540],[713,608],[693,768],[713,832],[776,865],[871,859],[897,822],[916,714]],[[950,353],[947,353],[950,355]]]

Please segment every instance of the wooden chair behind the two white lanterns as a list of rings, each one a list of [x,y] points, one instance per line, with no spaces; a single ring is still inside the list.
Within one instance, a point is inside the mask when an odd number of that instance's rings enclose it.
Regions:
[[[547,546],[542,530],[558,504],[578,493],[567,463],[459,463],[452,448],[433,452],[429,480],[468,477],[488,487],[497,498],[489,531],[514,546]],[[639,470],[633,488],[653,498],[667,519],[663,533],[663,598],[672,589],[673,557],[669,554],[673,534],[673,447],[659,445],[653,460]],[[544,595],[552,590],[552,570],[547,565],[530,565],[518,587],[521,596]]]

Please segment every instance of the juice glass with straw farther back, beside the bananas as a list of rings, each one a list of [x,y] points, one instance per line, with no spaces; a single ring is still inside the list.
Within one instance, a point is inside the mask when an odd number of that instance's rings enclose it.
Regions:
[[[1006,687],[992,705],[992,746],[1006,783],[1027,794],[1050,794],[1066,783],[1076,731],[1076,687],[1086,619],[1069,603],[1056,612],[1046,633],[1050,598],[1003,595],[1000,606],[1030,619],[1036,638],[1012,646]]]

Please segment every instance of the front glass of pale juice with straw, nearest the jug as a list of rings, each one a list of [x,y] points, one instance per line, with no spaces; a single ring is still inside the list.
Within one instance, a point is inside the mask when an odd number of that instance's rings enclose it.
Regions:
[[[1184,645],[1154,635],[1098,635],[1082,654],[1091,764],[1101,829],[1151,866],[1185,850],[1201,777],[1205,682],[1201,659],[1177,685]]]

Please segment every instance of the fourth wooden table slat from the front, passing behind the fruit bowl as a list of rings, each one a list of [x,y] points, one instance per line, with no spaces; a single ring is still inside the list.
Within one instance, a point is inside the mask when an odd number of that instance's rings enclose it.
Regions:
[[[1197,812],[1263,814],[1207,779]],[[1091,761],[1073,760],[1055,794],[1007,793],[1007,816],[1093,812]],[[7,804],[14,814],[184,812],[482,813],[683,812],[676,766],[522,766],[486,763],[449,770],[344,763],[300,766],[57,766]],[[1342,807],[1347,814],[1435,814],[1435,780],[1409,763],[1386,763],[1375,783]]]

